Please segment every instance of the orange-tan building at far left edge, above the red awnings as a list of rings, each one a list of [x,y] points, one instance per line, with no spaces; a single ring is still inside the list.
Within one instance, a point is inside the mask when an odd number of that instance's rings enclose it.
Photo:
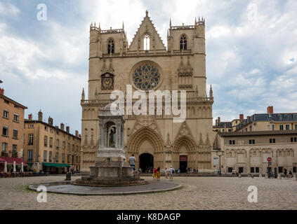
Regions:
[[[0,156],[22,158],[25,109],[26,106],[6,97],[0,88]]]

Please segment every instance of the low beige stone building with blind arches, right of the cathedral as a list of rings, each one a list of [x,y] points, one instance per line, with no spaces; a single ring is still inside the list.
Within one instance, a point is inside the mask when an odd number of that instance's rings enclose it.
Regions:
[[[272,158],[271,171],[284,168],[296,174],[297,130],[218,133],[213,143],[213,160],[216,151],[223,151],[221,172],[231,174],[232,169],[242,174],[264,174],[268,158]],[[218,165],[215,166],[219,169]]]

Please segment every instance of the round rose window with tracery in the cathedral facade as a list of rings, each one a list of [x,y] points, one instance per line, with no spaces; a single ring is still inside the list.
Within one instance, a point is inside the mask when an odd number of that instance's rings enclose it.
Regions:
[[[149,62],[137,66],[133,72],[133,83],[140,90],[153,90],[159,82],[159,70]]]

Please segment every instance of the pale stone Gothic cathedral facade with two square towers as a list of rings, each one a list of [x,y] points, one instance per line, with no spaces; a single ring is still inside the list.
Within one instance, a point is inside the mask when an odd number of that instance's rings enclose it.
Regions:
[[[81,172],[95,165],[100,146],[100,109],[110,104],[113,90],[186,90],[186,119],[173,123],[173,116],[124,116],[126,165],[131,154],[136,168],[181,169],[212,167],[213,92],[206,93],[205,20],[194,25],[171,25],[167,48],[148,12],[130,45],[124,23],[121,29],[90,26],[88,98],[81,94]],[[126,105],[126,104],[125,104]],[[179,104],[178,104],[179,105]]]

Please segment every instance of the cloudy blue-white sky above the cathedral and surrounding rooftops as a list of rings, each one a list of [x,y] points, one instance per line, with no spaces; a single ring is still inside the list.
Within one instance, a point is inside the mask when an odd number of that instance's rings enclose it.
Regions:
[[[47,20],[37,15],[44,3]],[[88,85],[88,31],[121,28],[129,42],[145,10],[165,45],[172,25],[206,20],[207,85],[213,118],[297,111],[297,1],[0,1],[0,79],[5,94],[37,119],[81,130],[81,90]]]

